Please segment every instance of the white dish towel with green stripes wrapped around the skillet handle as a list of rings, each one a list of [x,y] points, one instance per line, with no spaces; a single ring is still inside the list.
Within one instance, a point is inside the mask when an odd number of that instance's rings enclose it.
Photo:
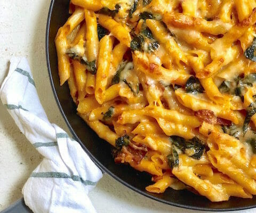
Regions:
[[[44,156],[23,186],[25,203],[35,213],[96,212],[87,196],[102,177],[80,144],[51,124],[38,99],[25,58],[12,58],[0,98],[27,139]]]

